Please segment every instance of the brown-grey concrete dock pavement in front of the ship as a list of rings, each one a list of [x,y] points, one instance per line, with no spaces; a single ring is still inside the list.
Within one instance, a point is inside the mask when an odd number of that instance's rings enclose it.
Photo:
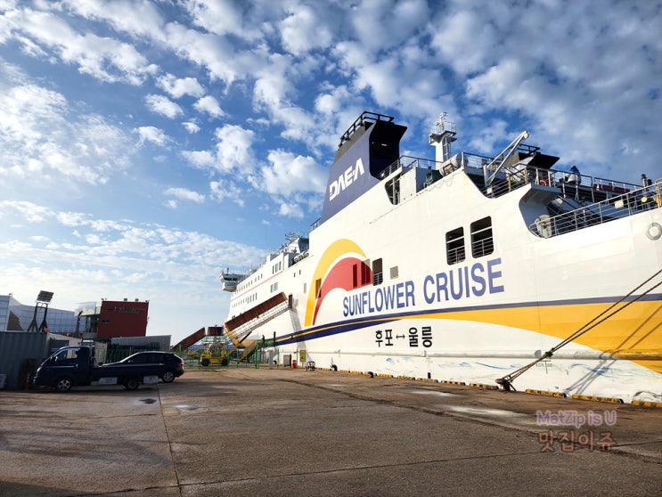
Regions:
[[[0,495],[655,495],[662,410],[331,371],[0,392]]]

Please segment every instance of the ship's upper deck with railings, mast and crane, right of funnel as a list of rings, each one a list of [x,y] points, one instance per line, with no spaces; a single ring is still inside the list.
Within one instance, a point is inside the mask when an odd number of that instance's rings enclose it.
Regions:
[[[393,205],[462,170],[487,198],[527,187],[525,222],[543,238],[662,208],[662,178],[651,181],[642,175],[642,184],[634,184],[582,175],[575,166],[554,168],[559,158],[524,143],[526,131],[494,157],[468,152],[451,156],[455,134],[455,125],[442,114],[429,135],[437,160],[402,156],[380,169],[378,177]]]

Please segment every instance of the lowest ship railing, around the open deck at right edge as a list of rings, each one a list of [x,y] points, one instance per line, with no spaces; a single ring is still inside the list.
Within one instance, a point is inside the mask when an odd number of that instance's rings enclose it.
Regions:
[[[557,216],[541,216],[529,225],[529,230],[537,236],[550,238],[655,208],[662,208],[662,178],[648,186],[583,205]]]

